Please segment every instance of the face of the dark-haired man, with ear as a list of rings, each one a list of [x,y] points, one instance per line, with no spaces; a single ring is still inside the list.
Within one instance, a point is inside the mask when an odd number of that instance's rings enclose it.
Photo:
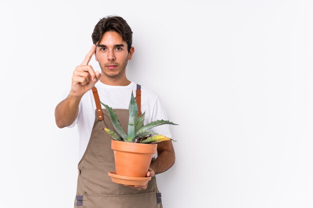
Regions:
[[[99,62],[102,74],[110,78],[125,76],[125,68],[134,48],[127,50],[127,43],[115,31],[107,31],[96,44],[95,60]]]

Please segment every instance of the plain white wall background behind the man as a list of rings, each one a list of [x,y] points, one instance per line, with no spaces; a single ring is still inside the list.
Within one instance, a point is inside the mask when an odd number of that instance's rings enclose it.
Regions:
[[[110,14],[133,30],[128,78],[179,124],[176,163],[157,176],[164,208],[313,207],[312,11],[311,0],[1,0],[0,207],[73,207],[77,130],[58,129],[54,108]]]

